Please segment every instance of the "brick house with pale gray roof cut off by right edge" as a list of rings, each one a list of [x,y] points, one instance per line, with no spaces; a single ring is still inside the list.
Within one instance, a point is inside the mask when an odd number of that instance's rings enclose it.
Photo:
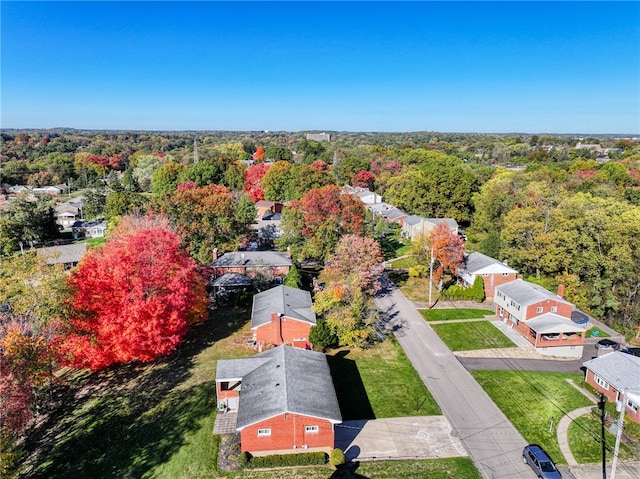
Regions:
[[[622,401],[625,414],[640,423],[640,357],[614,351],[583,363],[585,381],[609,402]]]

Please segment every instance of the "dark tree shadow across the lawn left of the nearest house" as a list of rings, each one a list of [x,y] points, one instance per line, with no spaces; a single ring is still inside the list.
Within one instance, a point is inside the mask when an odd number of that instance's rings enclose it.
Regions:
[[[247,318],[245,310],[214,312],[153,363],[70,372],[26,439],[24,477],[138,478],[168,461],[215,410],[213,378],[185,386],[196,356]]]

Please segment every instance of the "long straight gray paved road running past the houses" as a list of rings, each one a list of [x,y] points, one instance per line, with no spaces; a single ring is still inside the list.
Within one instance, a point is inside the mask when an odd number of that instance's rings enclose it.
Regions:
[[[391,285],[376,304],[482,477],[533,479],[522,463],[524,438],[415,307]]]

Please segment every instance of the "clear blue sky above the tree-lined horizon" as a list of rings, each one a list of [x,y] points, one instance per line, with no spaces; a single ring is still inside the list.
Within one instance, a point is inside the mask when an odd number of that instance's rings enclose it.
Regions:
[[[6,2],[3,128],[640,133],[640,2]]]

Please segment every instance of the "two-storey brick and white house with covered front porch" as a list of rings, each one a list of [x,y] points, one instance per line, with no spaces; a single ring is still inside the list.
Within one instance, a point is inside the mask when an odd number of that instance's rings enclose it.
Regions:
[[[571,320],[574,305],[537,284],[516,279],[495,288],[496,314],[548,356],[582,357],[586,327]]]

